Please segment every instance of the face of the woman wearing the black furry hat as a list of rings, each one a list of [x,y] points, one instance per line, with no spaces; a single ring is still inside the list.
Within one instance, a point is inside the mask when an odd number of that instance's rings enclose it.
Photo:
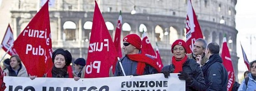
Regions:
[[[63,68],[66,65],[65,57],[62,54],[57,54],[54,58],[56,68]]]

